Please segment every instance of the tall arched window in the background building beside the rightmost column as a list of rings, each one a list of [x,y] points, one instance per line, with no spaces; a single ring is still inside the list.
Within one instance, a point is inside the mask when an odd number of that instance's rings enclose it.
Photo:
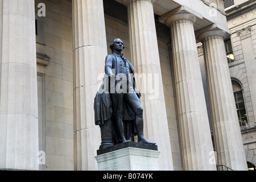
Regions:
[[[243,98],[243,89],[238,81],[232,80],[232,86],[235,97],[235,106],[237,106],[237,115],[240,127],[246,126],[248,123],[245,100]]]

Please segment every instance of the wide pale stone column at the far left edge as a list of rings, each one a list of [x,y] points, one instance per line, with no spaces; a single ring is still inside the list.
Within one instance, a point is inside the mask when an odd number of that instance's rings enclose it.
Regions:
[[[38,170],[33,0],[0,0],[0,168]]]

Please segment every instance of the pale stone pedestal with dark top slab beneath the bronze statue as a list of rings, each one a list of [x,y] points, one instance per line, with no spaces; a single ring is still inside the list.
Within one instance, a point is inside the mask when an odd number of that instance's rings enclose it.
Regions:
[[[97,151],[99,171],[158,171],[157,146],[126,142]]]

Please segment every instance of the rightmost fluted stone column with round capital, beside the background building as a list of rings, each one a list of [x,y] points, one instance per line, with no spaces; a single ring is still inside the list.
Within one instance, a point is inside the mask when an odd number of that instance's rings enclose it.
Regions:
[[[240,171],[247,170],[247,163],[223,41],[225,36],[225,31],[212,30],[198,39],[202,40],[205,55],[217,163]]]

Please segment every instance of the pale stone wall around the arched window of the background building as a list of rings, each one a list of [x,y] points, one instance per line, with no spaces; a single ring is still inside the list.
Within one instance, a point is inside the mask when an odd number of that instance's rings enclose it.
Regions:
[[[242,11],[233,11],[227,16],[227,24],[232,32],[230,36],[235,60],[229,64],[230,76],[240,82],[243,88],[246,113],[249,125],[241,130],[247,162],[256,164],[256,19],[255,3],[249,5],[245,1],[235,1],[243,7]]]

